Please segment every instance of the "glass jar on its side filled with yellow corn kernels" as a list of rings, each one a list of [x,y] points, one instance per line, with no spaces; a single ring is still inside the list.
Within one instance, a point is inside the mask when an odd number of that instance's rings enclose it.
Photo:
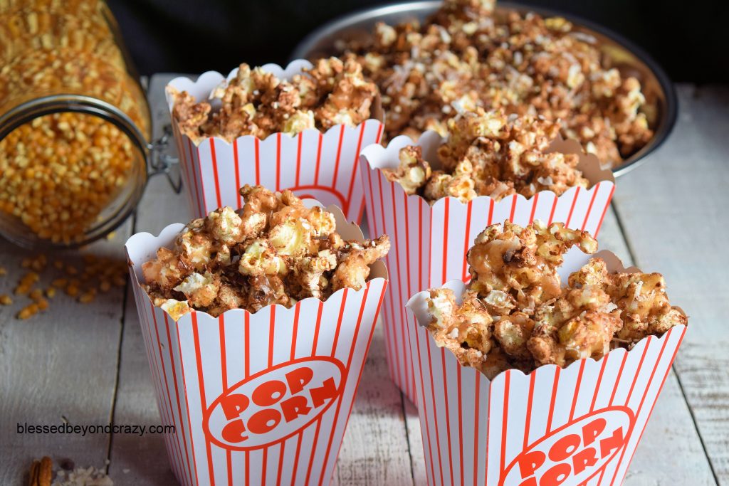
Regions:
[[[0,0],[0,233],[81,246],[147,184],[144,90],[104,1]]]

